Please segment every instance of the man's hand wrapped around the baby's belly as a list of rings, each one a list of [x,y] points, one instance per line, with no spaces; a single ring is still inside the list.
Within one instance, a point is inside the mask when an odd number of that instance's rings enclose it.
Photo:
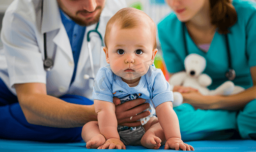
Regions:
[[[113,103],[116,105],[116,116],[118,120],[118,125],[123,125],[127,127],[140,126],[141,123],[138,120],[150,115],[150,111],[144,111],[150,107],[149,103],[145,103],[145,101],[145,99],[138,98],[120,104],[120,99],[114,97]],[[137,115],[137,113],[139,114]]]

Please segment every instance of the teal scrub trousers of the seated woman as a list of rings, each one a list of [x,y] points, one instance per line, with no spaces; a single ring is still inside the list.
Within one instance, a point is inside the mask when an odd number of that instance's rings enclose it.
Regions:
[[[184,103],[174,107],[179,118],[183,141],[191,140],[256,140],[256,99],[242,110],[195,110]]]

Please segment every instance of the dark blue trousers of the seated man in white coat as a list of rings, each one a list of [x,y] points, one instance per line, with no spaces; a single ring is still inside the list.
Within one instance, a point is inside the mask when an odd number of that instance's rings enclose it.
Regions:
[[[60,99],[76,104],[91,105],[93,101],[76,95],[64,95]],[[54,128],[27,123],[18,99],[0,79],[0,138],[47,142],[81,141],[82,127]]]

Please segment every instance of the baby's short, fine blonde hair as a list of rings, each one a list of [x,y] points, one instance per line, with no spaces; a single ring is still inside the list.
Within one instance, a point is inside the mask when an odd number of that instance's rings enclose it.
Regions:
[[[145,23],[146,22],[146,23]],[[143,11],[135,8],[124,8],[119,10],[113,15],[106,25],[106,32],[104,37],[105,46],[107,48],[108,37],[111,32],[113,25],[117,24],[121,29],[129,29],[139,26],[140,24],[148,24],[151,28],[154,39],[154,49],[157,47],[156,44],[156,25],[154,21]]]

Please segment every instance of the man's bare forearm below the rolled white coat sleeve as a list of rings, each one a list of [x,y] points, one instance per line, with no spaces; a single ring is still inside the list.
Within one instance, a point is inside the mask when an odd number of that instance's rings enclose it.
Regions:
[[[26,83],[14,87],[20,107],[30,124],[72,128],[97,120],[94,105],[73,104],[49,96],[45,84]]]

